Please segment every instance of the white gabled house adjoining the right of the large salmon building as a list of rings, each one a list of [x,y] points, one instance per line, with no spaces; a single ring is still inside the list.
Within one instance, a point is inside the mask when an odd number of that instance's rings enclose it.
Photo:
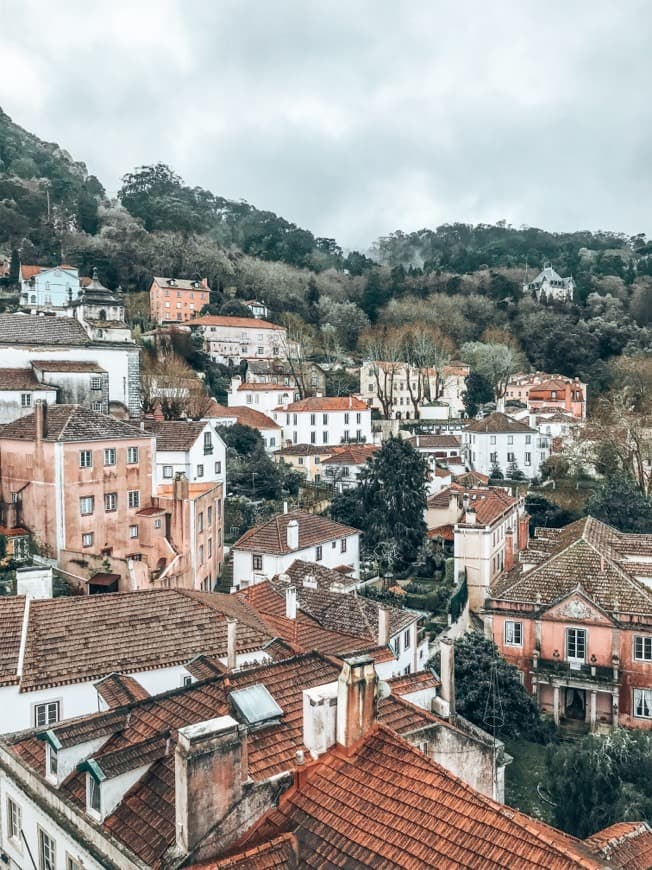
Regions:
[[[182,472],[190,483],[221,483],[226,492],[226,445],[210,422],[147,421],[156,437],[156,486]]]

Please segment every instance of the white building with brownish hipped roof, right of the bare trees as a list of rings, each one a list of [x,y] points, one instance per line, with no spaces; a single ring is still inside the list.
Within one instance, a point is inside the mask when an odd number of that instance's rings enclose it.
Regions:
[[[550,456],[550,438],[499,411],[469,423],[462,443],[474,471],[488,475],[498,466],[507,477],[515,465],[532,480]]]

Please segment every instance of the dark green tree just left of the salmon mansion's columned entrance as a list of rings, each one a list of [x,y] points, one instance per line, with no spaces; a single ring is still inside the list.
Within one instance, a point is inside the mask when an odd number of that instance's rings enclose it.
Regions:
[[[439,670],[439,653],[431,663]],[[455,699],[457,712],[479,728],[491,730],[489,720],[495,710],[496,734],[501,738],[523,737],[540,743],[550,739],[551,726],[525,691],[517,669],[480,632],[469,632],[455,641]]]

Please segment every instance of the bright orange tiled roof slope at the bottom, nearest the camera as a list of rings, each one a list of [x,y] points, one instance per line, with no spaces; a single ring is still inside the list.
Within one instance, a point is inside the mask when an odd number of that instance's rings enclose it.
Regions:
[[[306,774],[254,832],[292,831],[303,867],[600,867],[574,837],[479,794],[382,724]]]

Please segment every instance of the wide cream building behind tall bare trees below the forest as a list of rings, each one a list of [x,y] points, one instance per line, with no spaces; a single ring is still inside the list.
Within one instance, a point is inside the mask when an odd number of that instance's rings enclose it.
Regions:
[[[441,406],[441,413],[435,415],[438,419],[461,417],[465,378],[470,371],[470,366],[458,362],[438,372],[412,368],[403,362],[369,360],[360,368],[360,397],[388,419],[415,419],[433,401]]]

